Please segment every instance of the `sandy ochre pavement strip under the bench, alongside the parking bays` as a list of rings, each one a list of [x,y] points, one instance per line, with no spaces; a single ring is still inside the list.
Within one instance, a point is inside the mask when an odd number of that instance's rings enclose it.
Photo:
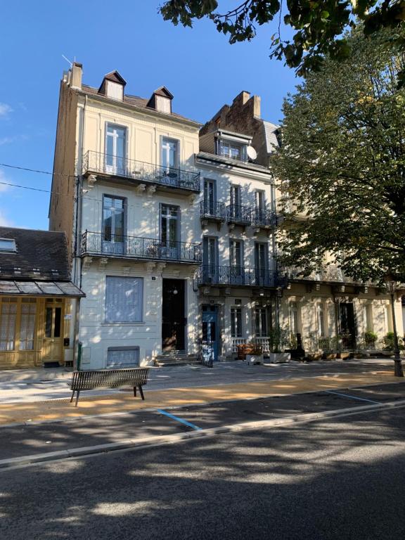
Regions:
[[[251,368],[249,368],[251,369]],[[162,371],[159,371],[162,373]],[[164,375],[164,373],[163,373]],[[132,390],[108,394],[81,395],[77,408],[68,399],[48,399],[0,404],[0,425],[32,423],[50,420],[124,413],[142,409],[170,409],[180,406],[210,404],[221,401],[258,399],[304,392],[336,390],[385,383],[403,383],[395,379],[392,369],[377,369],[366,373],[330,373],[300,378],[256,380],[246,383],[184,386],[167,390],[145,387],[145,401],[135,399]]]

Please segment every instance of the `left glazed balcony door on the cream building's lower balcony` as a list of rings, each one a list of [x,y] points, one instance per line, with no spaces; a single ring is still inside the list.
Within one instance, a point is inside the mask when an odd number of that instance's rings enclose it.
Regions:
[[[125,199],[103,196],[103,227],[101,233],[101,252],[112,255],[124,253]],[[91,241],[89,235],[88,241]],[[89,246],[98,251],[98,246]]]

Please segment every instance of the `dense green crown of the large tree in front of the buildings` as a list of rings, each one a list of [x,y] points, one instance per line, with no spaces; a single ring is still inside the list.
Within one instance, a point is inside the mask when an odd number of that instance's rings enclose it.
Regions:
[[[285,262],[309,272],[332,253],[354,278],[387,270],[405,281],[405,56],[383,30],[347,37],[350,55],[326,58],[285,99],[282,147],[271,160],[286,197],[307,219],[290,220]],[[295,212],[290,216],[294,218]]]

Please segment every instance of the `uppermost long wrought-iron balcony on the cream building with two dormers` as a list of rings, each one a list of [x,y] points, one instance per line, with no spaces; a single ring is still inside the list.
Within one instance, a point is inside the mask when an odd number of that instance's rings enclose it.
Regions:
[[[97,174],[115,180],[125,179],[131,184],[155,186],[164,191],[198,193],[200,173],[161,167],[143,161],[128,160],[115,155],[89,150],[83,158],[83,174]]]

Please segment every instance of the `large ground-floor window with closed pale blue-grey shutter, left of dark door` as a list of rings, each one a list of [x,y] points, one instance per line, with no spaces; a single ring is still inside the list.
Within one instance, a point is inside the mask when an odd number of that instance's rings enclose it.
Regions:
[[[106,323],[140,323],[142,304],[143,278],[105,278]]]

